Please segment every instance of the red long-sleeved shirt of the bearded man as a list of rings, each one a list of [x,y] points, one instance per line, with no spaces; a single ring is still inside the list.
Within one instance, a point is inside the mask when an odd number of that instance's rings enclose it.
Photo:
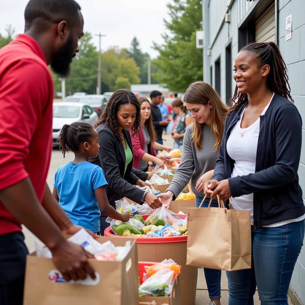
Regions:
[[[29,177],[38,199],[52,151],[53,82],[45,55],[29,35],[0,49],[0,190]],[[0,235],[20,231],[0,201]]]

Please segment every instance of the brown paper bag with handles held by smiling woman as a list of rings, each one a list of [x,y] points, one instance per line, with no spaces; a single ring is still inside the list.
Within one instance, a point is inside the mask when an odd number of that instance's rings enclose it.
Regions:
[[[188,209],[186,264],[227,271],[251,268],[250,211],[228,210],[219,199],[218,207],[210,204]]]

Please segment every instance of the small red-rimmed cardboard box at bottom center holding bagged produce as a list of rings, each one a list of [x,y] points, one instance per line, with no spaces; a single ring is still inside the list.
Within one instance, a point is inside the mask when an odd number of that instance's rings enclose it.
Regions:
[[[151,263],[151,262],[139,262],[139,277],[140,277],[140,282],[142,284],[142,276],[143,276],[143,271],[141,270],[142,266],[150,266],[152,264],[156,263]],[[140,267],[141,266],[141,267]],[[143,296],[139,297],[139,304],[146,304],[146,305],[181,305],[181,297],[180,297],[180,277],[179,274],[176,276],[174,284],[173,284],[173,289],[170,294],[170,296]]]

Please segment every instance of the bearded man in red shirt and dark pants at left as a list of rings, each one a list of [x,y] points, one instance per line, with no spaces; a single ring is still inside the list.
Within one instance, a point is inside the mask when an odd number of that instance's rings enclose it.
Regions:
[[[52,151],[53,82],[47,65],[69,73],[83,18],[74,0],[30,0],[25,34],[0,50],[0,303],[22,304],[25,224],[51,250],[66,280],[95,277],[46,177]]]

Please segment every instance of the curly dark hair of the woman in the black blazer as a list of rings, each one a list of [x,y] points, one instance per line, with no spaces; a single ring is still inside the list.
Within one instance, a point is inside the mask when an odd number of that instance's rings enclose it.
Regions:
[[[99,120],[95,123],[94,128],[98,127],[100,124],[106,124],[113,132],[115,137],[123,141],[120,133],[119,133],[119,123],[117,121],[117,112],[120,109],[120,106],[123,104],[131,103],[135,105],[137,110],[137,114],[135,116],[135,122],[131,127],[131,136],[133,137],[135,134],[138,134],[141,126],[141,107],[140,103],[136,96],[129,90],[126,89],[118,89],[113,92],[109,101],[106,104],[106,108],[103,113],[100,115]]]

